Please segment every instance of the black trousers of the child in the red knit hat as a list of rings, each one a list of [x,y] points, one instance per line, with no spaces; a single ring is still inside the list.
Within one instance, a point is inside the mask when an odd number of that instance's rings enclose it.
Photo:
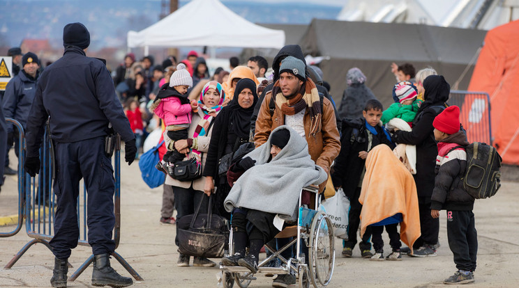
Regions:
[[[472,211],[447,211],[447,238],[458,270],[476,270],[478,232]]]

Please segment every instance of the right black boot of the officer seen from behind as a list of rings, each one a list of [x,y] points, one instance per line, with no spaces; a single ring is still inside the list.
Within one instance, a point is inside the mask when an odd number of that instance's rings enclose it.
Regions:
[[[110,254],[93,256],[93,286],[126,287],[132,284],[132,278],[119,275],[119,273],[110,266]]]

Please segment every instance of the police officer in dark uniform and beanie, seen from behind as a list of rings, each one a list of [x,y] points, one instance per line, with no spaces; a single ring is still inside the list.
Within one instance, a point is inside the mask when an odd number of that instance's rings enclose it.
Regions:
[[[81,23],[67,24],[63,29],[65,53],[41,74],[27,120],[27,159],[25,170],[34,177],[40,169],[39,147],[45,122],[50,116],[50,133],[54,141],[57,210],[54,238],[54,287],[67,285],[67,261],[77,246],[76,203],[80,179],[89,193],[87,199],[88,239],[94,255],[92,285],[126,287],[131,278],[122,277],[110,267],[114,253],[114,170],[105,154],[105,136],[109,122],[126,143],[128,165],[135,159],[137,147],[130,123],[116,97],[110,72],[102,61],[90,58],[85,51],[90,33]]]

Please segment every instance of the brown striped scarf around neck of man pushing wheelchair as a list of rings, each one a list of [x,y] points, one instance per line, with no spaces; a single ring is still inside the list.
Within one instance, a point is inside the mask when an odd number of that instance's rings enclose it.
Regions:
[[[272,95],[276,95],[276,105],[281,108],[285,115],[294,115],[308,107],[310,113],[310,134],[315,136],[322,128],[322,109],[319,103],[319,92],[312,79],[306,78],[306,83],[291,97],[287,98],[281,93],[279,80],[274,83]]]

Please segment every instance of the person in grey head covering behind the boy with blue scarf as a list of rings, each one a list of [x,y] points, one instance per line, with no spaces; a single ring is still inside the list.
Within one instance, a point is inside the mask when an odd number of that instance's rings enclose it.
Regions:
[[[344,90],[343,99],[340,101],[340,118],[355,119],[362,116],[364,105],[369,99],[377,99],[370,88],[366,87],[366,76],[362,71],[354,67],[346,74],[348,88]]]

